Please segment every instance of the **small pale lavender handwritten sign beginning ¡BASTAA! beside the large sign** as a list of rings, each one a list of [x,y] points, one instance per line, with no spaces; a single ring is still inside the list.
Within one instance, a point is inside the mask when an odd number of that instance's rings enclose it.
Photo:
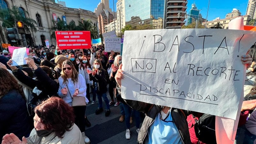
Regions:
[[[105,52],[121,52],[121,38],[105,38]]]

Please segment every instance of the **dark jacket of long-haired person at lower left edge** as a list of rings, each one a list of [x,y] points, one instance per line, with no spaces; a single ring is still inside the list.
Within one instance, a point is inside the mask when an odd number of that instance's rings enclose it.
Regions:
[[[30,133],[26,100],[17,90],[0,97],[0,138],[7,133],[14,133],[20,140]]]

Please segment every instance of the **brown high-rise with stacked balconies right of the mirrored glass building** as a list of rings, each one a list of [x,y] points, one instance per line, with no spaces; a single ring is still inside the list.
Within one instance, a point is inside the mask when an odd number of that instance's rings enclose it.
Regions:
[[[185,14],[187,14],[187,0],[166,1],[166,22],[164,28],[181,28],[185,23]]]

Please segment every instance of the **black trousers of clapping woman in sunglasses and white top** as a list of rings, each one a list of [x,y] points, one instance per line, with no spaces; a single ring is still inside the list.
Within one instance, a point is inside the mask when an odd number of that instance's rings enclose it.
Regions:
[[[84,115],[86,106],[73,107],[75,113],[75,124],[79,127],[81,133],[85,131]]]

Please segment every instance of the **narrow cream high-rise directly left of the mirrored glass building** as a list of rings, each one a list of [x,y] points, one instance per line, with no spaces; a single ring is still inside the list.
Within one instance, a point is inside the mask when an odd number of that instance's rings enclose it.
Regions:
[[[117,29],[116,33],[121,33],[122,28],[125,27],[125,0],[117,0],[116,14],[117,14]]]

